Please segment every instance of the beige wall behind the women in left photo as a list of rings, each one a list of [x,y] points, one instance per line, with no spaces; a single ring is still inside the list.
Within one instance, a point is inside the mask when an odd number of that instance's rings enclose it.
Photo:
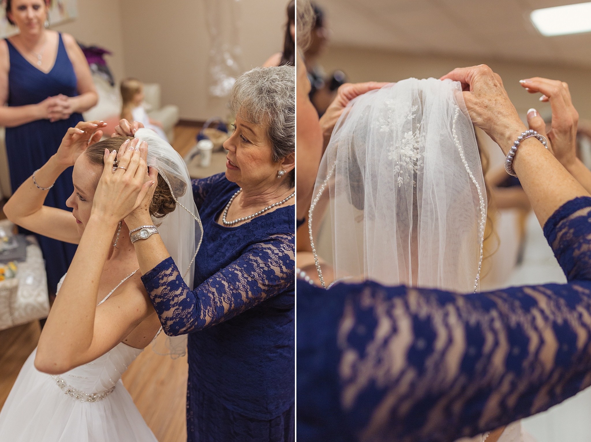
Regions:
[[[207,93],[209,35],[203,1],[79,0],[78,17],[54,26],[84,44],[109,49],[116,80],[160,83],[162,103],[184,119],[226,116],[226,99]],[[243,70],[261,66],[283,45],[287,0],[241,0],[239,43]]]

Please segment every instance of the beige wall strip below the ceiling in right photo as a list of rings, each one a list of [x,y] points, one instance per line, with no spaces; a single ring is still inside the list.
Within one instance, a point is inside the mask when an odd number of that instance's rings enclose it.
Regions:
[[[352,82],[393,82],[408,77],[439,78],[455,67],[486,63],[501,76],[509,97],[521,115],[530,108],[549,112],[550,106],[538,101],[540,94],[530,95],[519,85],[521,79],[540,76],[569,83],[573,104],[581,118],[591,119],[591,69],[551,66],[545,63],[402,54],[336,45],[327,50],[320,63],[329,73],[335,69],[343,70]]]

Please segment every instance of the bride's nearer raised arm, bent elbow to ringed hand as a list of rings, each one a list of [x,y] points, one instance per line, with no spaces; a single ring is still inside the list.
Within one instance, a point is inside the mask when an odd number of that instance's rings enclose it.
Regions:
[[[147,144],[138,141],[124,142],[121,149],[125,149],[125,154],[115,173],[116,151],[105,150],[105,167],[94,193],[90,218],[39,338],[35,367],[40,371],[60,374],[90,362],[124,341],[147,317],[155,316],[139,280],[97,306],[99,282],[113,250],[119,220],[137,206],[136,199],[141,201],[154,184],[145,179]],[[115,197],[123,203],[112,204]],[[153,336],[147,337],[147,342]]]

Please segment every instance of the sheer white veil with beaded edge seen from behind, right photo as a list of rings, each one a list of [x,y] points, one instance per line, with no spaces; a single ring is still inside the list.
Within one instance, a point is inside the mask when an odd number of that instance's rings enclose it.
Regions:
[[[335,281],[478,289],[486,191],[460,83],[407,79],[353,99],[324,152],[309,212]]]

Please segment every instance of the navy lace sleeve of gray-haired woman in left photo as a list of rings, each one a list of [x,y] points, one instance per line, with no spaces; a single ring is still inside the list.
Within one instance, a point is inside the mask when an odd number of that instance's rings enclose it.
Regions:
[[[185,284],[172,258],[142,276],[164,332],[197,332],[252,308],[294,284],[293,235],[272,235],[245,249],[232,264],[200,284]]]

